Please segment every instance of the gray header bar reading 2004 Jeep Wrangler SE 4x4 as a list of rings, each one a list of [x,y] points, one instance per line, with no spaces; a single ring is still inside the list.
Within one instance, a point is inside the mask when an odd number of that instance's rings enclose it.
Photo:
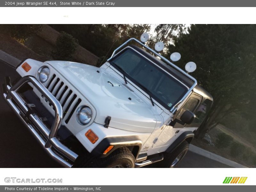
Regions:
[[[4,0],[0,7],[256,7],[252,0]]]

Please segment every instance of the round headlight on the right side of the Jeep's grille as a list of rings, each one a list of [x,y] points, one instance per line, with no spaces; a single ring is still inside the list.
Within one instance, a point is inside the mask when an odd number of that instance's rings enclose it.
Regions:
[[[92,120],[92,109],[89,106],[81,106],[76,111],[76,120],[81,125],[86,125]]]

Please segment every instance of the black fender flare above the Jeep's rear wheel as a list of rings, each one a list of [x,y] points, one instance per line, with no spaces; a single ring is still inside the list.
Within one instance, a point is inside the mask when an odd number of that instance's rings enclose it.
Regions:
[[[185,131],[180,134],[180,136],[166,149],[165,152],[172,153],[183,141],[188,141],[190,143],[194,138],[194,133],[192,131]]]

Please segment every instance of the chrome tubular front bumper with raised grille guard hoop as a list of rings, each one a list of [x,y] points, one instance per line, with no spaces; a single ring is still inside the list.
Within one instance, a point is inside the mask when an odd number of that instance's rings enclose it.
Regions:
[[[22,85],[31,83],[44,97],[50,101],[55,111],[52,127],[49,129],[33,112],[31,105],[26,103],[17,92]],[[60,102],[33,76],[24,76],[16,84],[11,85],[10,78],[6,78],[3,85],[3,96],[20,120],[36,136],[45,150],[60,164],[72,167],[78,155],[63,145],[57,138],[57,132],[63,119],[63,109]]]

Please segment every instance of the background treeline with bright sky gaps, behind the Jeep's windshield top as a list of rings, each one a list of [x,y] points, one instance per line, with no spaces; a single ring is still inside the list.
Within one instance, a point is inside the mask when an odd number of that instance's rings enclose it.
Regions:
[[[81,46],[100,57],[100,63],[109,58],[120,44],[132,37],[140,39],[141,34],[150,33],[152,27],[151,24],[52,24],[50,26],[74,36]],[[154,29],[154,34],[150,34],[146,44],[152,48],[158,41],[168,44],[185,29],[183,24],[159,24]]]

